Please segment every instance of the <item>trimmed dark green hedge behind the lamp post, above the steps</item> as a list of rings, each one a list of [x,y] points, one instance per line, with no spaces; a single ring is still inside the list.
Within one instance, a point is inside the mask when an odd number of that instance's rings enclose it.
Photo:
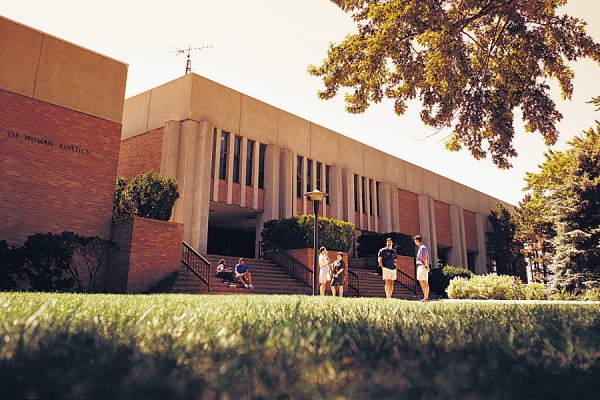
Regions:
[[[300,215],[267,221],[261,237],[283,250],[312,248],[314,219],[313,215]],[[353,241],[353,224],[319,217],[319,247],[346,252],[352,247]]]

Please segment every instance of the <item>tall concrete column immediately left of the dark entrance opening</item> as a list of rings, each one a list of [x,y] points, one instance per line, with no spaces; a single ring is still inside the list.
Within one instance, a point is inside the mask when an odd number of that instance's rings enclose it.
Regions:
[[[196,170],[194,174],[194,199],[192,207],[190,245],[200,253],[206,253],[208,246],[208,213],[210,208],[211,155],[213,149],[213,125],[207,121],[198,126],[196,141]]]

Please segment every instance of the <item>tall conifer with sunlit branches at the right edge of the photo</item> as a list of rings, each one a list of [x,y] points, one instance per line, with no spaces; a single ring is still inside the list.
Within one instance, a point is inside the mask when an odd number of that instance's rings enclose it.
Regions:
[[[579,292],[600,286],[600,123],[569,144],[572,160],[549,203],[555,216],[552,286]]]

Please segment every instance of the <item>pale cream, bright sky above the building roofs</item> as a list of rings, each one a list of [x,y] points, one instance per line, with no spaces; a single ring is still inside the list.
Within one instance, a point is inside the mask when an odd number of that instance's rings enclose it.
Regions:
[[[600,42],[599,10],[596,1],[569,0],[561,12],[584,19]],[[513,142],[519,155],[512,169],[500,170],[489,157],[446,150],[450,131],[425,127],[418,102],[398,116],[390,101],[355,115],[344,111],[343,92],[319,100],[323,85],[308,65],[319,65],[330,43],[355,30],[329,0],[0,0],[0,15],[127,63],[127,98],[184,75],[186,54],[176,49],[205,47],[191,53],[194,73],[513,205],[524,196],[525,173],[545,159],[541,136],[520,121]],[[600,95],[600,66],[580,60],[572,67],[570,101],[549,82],[563,114],[554,150],[600,120],[586,103]]]

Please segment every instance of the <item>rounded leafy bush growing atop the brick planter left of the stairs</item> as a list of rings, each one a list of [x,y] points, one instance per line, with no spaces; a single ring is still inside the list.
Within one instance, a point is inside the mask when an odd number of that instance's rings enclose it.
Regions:
[[[168,221],[178,198],[178,183],[173,177],[164,178],[154,171],[130,180],[119,177],[116,182],[113,218],[137,215]]]

